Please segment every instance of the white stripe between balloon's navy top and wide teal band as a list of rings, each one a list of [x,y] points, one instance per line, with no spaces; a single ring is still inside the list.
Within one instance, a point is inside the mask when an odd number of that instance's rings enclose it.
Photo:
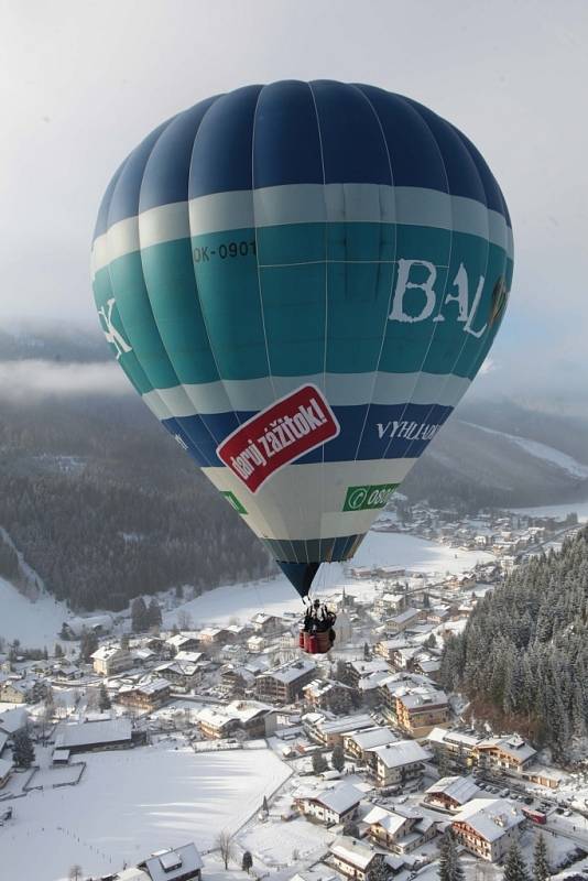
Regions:
[[[253,205],[254,199],[254,205]],[[198,196],[188,205],[192,236],[284,224],[405,224],[469,232],[488,238],[513,255],[504,217],[476,199],[423,187],[379,184],[286,184]],[[143,218],[144,221],[143,221]],[[186,203],[150,208],[140,215],[141,247],[187,237]],[[488,232],[489,230],[489,232]],[[108,252],[105,249],[108,237]],[[92,246],[94,273],[139,248],[137,217],[115,224]]]

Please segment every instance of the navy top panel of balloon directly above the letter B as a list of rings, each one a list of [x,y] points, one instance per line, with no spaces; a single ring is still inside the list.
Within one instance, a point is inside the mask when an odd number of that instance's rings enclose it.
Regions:
[[[382,126],[395,186],[420,186],[447,193],[439,148],[428,127],[406,98],[374,86],[358,85]]]

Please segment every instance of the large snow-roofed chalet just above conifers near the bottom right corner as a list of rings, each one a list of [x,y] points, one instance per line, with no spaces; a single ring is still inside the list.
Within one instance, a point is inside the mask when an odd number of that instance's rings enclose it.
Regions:
[[[473,798],[451,823],[464,847],[489,862],[500,862],[519,838],[524,816],[505,798]]]

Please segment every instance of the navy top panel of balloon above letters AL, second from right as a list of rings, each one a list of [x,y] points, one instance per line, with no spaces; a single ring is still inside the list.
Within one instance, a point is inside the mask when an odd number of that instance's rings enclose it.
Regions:
[[[465,196],[486,205],[486,193],[478,170],[453,126],[422,104],[410,98],[405,100],[422,116],[437,141],[451,196]]]

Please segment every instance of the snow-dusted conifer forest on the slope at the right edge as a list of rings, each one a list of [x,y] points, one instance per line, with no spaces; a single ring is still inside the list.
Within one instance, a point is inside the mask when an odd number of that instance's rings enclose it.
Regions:
[[[478,601],[446,643],[442,681],[494,730],[519,730],[569,761],[588,733],[588,529],[532,558]]]

